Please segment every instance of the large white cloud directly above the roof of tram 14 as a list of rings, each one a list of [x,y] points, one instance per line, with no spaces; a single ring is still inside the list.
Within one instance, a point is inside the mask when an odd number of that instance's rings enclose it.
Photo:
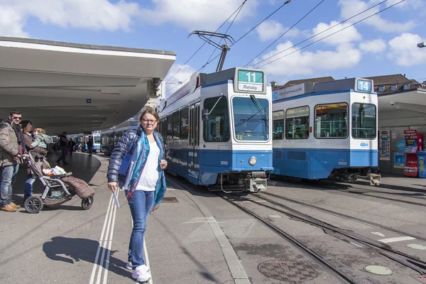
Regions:
[[[282,50],[286,50],[293,45],[290,41],[277,45],[277,48],[271,53],[263,55],[262,60],[270,57]],[[292,53],[296,48],[290,48],[280,56]],[[273,59],[276,59],[273,58]],[[312,75],[321,70],[337,70],[352,68],[361,60],[361,53],[351,44],[345,43],[337,46],[336,50],[317,50],[315,52],[301,50],[277,60],[262,69],[272,73],[275,76],[293,76],[293,75]],[[259,62],[256,60],[255,62]],[[269,62],[267,60],[266,62]],[[263,64],[263,63],[261,63]]]

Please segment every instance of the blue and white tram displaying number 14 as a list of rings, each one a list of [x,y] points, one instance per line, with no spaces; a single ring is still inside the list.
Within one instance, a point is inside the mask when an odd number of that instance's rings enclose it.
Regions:
[[[273,92],[273,174],[356,181],[380,175],[373,81],[304,83]]]

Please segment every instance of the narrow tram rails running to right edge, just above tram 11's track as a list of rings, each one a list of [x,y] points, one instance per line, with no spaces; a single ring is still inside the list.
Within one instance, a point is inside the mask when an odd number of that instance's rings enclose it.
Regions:
[[[285,201],[293,202],[295,204],[299,204],[299,205],[302,205],[302,206],[305,206],[305,207],[310,207],[312,209],[316,209],[318,211],[321,211],[321,212],[324,212],[324,213],[327,213],[327,214],[331,214],[331,215],[337,216],[337,217],[342,218],[342,219],[349,219],[349,220],[352,220],[352,221],[355,221],[355,222],[359,222],[359,223],[362,223],[362,224],[367,224],[367,225],[370,225],[370,226],[375,226],[375,227],[380,228],[380,229],[386,229],[388,231],[392,231],[392,232],[397,233],[397,234],[402,234],[403,236],[411,236],[411,237],[413,237],[415,239],[426,241],[426,237],[425,236],[417,236],[415,234],[409,234],[409,233],[407,233],[405,231],[400,231],[398,229],[393,229],[393,228],[391,228],[389,226],[383,226],[383,225],[375,223],[375,222],[371,222],[371,221],[367,221],[367,220],[364,220],[364,219],[353,217],[353,216],[350,216],[350,215],[347,215],[347,214],[335,212],[335,211],[332,211],[332,210],[329,210],[329,209],[325,209],[325,208],[322,208],[322,207],[318,207],[318,206],[315,206],[315,205],[312,205],[312,204],[307,204],[307,203],[299,201],[299,200],[293,200],[291,198],[283,197],[281,195],[275,195],[274,193],[271,193],[271,192],[262,192],[261,195],[258,195],[258,194],[253,194],[253,195],[256,196],[256,197],[258,197],[258,198],[260,198],[260,199],[262,199],[262,200],[265,200],[267,202],[273,202],[273,200],[269,200],[268,198],[262,196],[262,195],[268,195],[268,196],[271,196],[271,197],[278,198],[280,200],[285,200]],[[280,207],[282,205],[283,204],[279,204],[279,203],[277,204],[277,206],[280,206]]]

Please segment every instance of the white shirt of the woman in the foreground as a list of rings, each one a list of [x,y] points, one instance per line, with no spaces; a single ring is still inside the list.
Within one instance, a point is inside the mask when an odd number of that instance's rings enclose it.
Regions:
[[[149,143],[149,155],[146,159],[145,167],[142,170],[141,179],[136,186],[136,190],[154,191],[155,185],[158,182],[158,158],[160,155],[160,148],[157,143]]]

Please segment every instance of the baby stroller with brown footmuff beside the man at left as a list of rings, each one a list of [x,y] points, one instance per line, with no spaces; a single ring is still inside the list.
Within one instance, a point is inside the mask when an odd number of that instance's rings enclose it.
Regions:
[[[28,164],[33,174],[38,177],[41,184],[45,187],[43,194],[28,197],[24,207],[28,213],[38,213],[43,206],[56,207],[68,202],[73,196],[78,195],[82,198],[82,209],[87,210],[92,207],[94,190],[86,182],[72,177],[72,173],[63,175],[49,175],[43,173],[43,169],[50,169],[48,161],[36,151],[30,151]]]

